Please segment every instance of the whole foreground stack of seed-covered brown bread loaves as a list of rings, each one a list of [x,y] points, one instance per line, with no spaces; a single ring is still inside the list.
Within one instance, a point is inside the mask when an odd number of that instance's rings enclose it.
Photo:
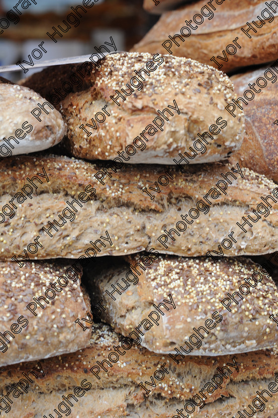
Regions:
[[[82,86],[54,103],[76,74]],[[223,162],[244,137],[228,76],[121,53],[0,87],[19,107],[44,98],[31,114],[52,142],[38,148],[14,125],[26,152],[59,142],[65,124],[68,155],[1,161],[0,409],[277,418],[278,186]]]

